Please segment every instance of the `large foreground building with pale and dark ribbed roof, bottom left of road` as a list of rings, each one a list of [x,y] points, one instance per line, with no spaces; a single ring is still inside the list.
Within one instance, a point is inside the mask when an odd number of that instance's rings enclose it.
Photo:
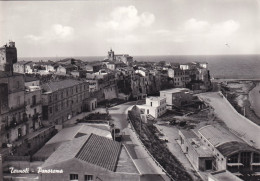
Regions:
[[[42,181],[133,181],[141,177],[125,146],[93,133],[62,143],[41,169],[62,170],[40,173]]]

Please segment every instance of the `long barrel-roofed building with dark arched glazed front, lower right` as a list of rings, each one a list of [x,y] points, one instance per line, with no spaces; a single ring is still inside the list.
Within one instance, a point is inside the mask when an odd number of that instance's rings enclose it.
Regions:
[[[259,173],[260,152],[222,127],[207,125],[198,136],[215,157],[216,170],[228,170],[235,175]]]

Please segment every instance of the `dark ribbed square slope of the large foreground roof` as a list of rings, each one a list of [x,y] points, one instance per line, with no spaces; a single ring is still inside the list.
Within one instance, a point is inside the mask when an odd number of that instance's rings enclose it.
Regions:
[[[115,171],[122,144],[91,134],[76,158]]]

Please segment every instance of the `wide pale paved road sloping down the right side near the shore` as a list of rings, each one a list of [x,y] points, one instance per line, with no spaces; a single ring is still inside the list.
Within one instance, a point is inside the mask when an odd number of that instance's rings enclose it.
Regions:
[[[220,92],[198,94],[207,104],[214,108],[214,112],[238,137],[249,145],[260,149],[260,127],[251,120],[239,114]]]

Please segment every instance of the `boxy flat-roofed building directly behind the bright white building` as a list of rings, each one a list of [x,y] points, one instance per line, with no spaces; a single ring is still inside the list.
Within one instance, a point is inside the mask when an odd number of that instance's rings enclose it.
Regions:
[[[160,97],[166,98],[167,107],[171,109],[189,103],[193,94],[186,88],[174,88],[160,91]]]

